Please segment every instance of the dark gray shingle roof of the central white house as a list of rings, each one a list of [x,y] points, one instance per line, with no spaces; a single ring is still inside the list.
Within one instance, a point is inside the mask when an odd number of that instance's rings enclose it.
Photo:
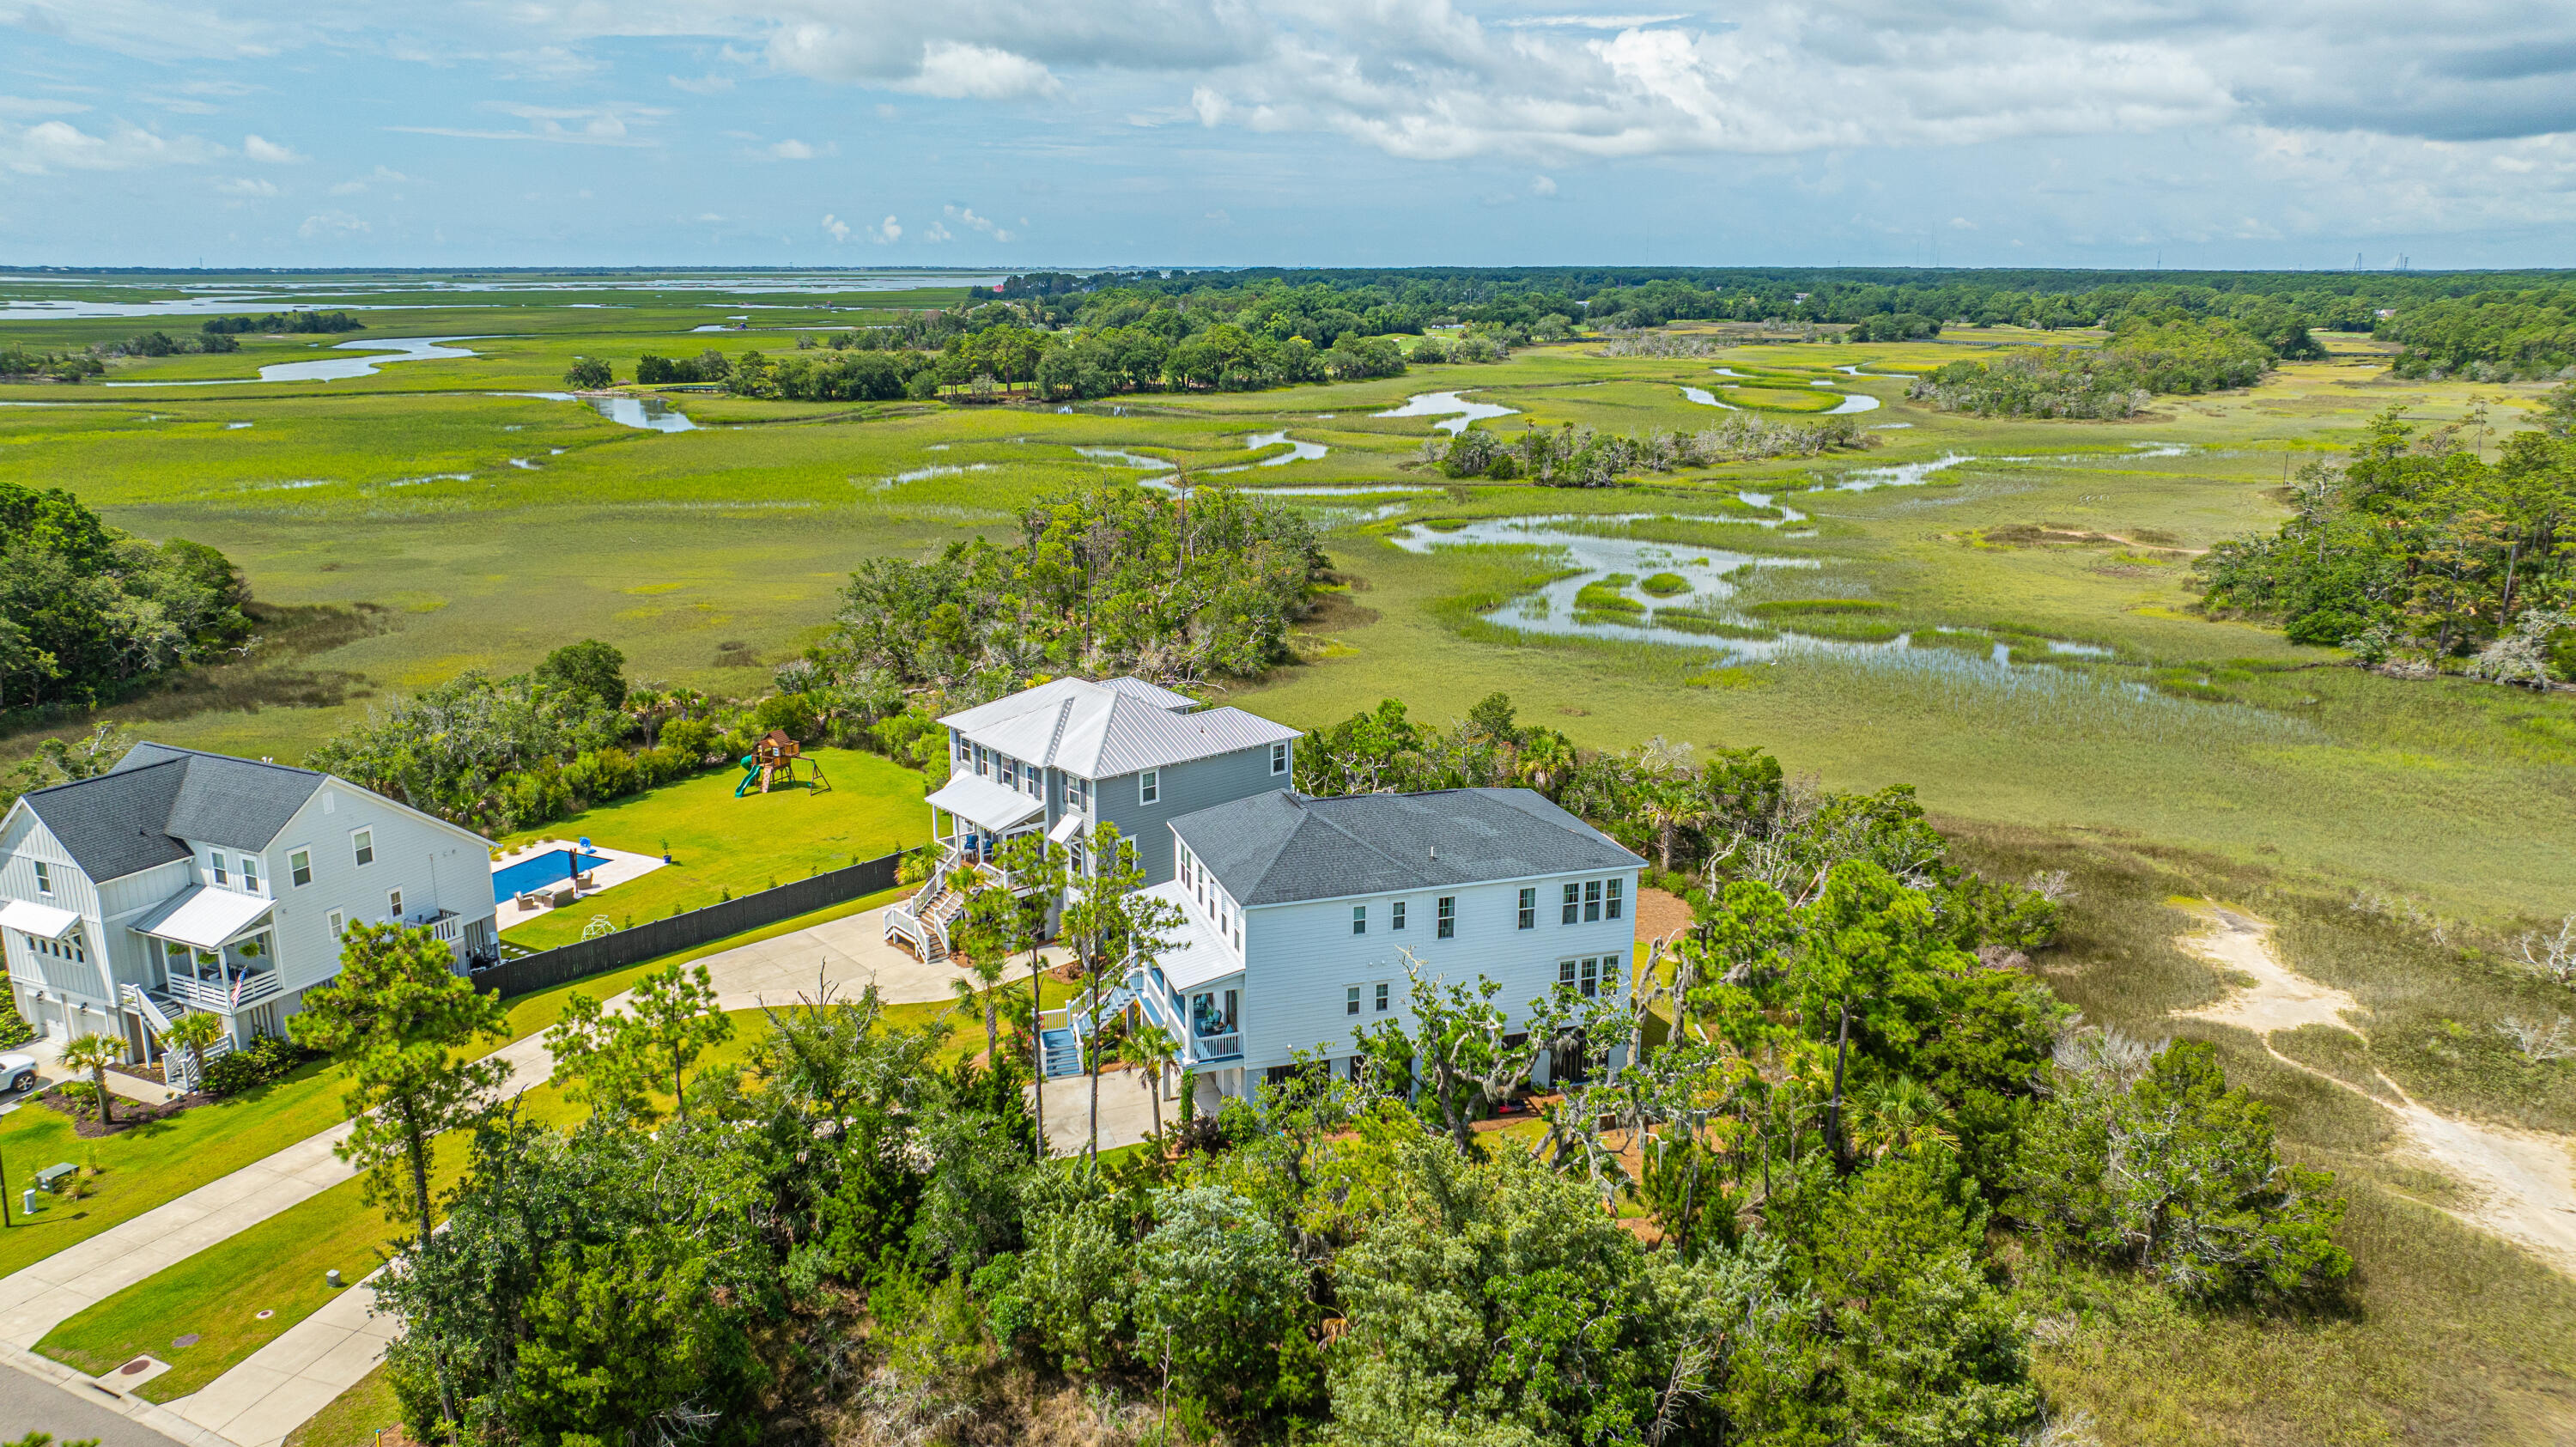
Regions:
[[[1342,798],[1283,788],[1182,814],[1172,834],[1247,906],[1643,863],[1525,788]]]

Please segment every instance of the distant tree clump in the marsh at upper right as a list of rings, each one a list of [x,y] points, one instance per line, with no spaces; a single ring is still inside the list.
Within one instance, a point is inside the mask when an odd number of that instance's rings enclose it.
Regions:
[[[2280,355],[2313,355],[2306,330],[2275,350],[2236,322],[2123,319],[2102,348],[2025,348],[1955,360],[1906,397],[1978,417],[2130,417],[2156,394],[2254,386]]]

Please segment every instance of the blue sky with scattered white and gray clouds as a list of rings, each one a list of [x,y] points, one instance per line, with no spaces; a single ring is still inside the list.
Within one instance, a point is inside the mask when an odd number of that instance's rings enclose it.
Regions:
[[[2530,0],[0,0],[0,265],[2576,265]]]

